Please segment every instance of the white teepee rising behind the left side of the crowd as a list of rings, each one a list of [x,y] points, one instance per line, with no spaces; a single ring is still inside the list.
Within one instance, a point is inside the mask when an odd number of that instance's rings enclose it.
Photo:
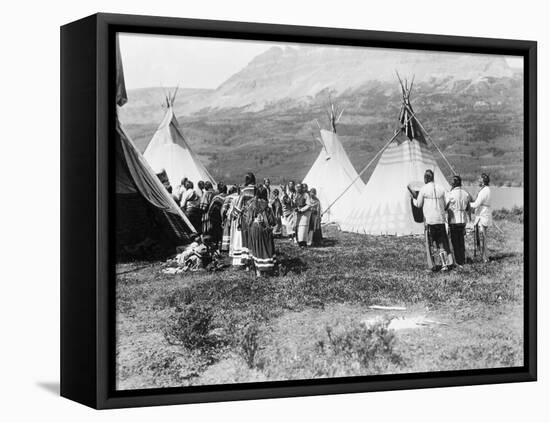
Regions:
[[[172,188],[179,186],[184,177],[187,177],[195,186],[198,181],[210,181],[216,186],[214,178],[183,136],[173,109],[176,93],[177,89],[173,95],[166,96],[166,115],[143,156],[155,172],[166,171]]]

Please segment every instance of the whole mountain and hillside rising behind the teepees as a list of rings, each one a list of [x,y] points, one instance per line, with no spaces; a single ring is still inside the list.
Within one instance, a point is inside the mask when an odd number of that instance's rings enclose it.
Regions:
[[[414,74],[413,107],[466,180],[483,169],[497,184],[523,183],[523,80],[501,57],[272,48],[215,90],[180,90],[175,108],[215,177],[238,182],[252,170],[281,182],[303,178],[315,160],[315,120],[327,126],[330,96],[345,109],[338,133],[360,170],[396,127],[395,69]],[[121,111],[142,151],[162,118],[162,97],[160,88],[130,90]]]

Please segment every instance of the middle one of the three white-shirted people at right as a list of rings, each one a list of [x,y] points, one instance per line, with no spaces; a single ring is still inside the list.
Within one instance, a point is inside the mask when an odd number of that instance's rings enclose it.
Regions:
[[[462,266],[466,262],[464,234],[470,214],[470,202],[472,201],[472,197],[462,188],[462,178],[460,176],[453,176],[451,186],[451,191],[446,198],[447,218],[456,264]]]

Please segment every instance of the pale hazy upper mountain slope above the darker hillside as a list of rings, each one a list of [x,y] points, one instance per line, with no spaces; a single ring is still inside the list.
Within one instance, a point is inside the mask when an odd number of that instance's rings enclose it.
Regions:
[[[430,83],[438,92],[455,90],[455,84],[476,85],[487,78],[511,78],[512,69],[501,56],[417,52],[340,47],[272,47],[256,56],[215,90],[180,90],[179,114],[212,109],[260,111],[279,102],[311,102],[321,92],[334,95],[372,82],[391,82],[396,71],[417,83]],[[125,112],[131,120],[161,114],[160,88],[131,90]],[[155,106],[157,110],[152,108]],[[149,117],[150,119],[151,117]]]

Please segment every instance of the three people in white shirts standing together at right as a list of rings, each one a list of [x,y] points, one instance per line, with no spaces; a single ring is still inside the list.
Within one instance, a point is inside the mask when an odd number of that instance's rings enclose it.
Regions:
[[[462,187],[460,176],[453,176],[451,190],[445,190],[434,181],[434,173],[428,169],[424,173],[425,185],[418,193],[413,194],[413,203],[421,208],[424,215],[429,239],[434,243],[436,254],[441,262],[441,269],[448,270],[455,264],[464,265],[466,262],[466,249],[464,236],[466,224],[471,221],[474,225],[475,249],[479,250],[483,262],[488,262],[487,233],[492,224],[490,178],[486,173],[479,177],[480,191],[474,200]],[[471,212],[475,211],[472,219]],[[449,235],[453,250],[451,252]],[[453,259],[454,257],[454,259]],[[430,261],[430,258],[428,258]],[[431,265],[428,263],[428,265]]]

